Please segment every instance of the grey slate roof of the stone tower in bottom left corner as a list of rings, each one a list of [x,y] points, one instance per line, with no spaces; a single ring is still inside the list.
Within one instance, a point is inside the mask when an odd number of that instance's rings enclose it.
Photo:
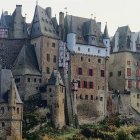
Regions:
[[[15,88],[16,103],[22,103],[11,70],[1,69],[0,70],[0,102],[8,102],[8,98],[9,98],[8,94],[11,88]]]

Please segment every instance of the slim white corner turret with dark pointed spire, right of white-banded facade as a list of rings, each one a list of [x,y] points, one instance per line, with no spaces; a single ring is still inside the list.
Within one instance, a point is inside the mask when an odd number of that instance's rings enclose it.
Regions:
[[[103,43],[107,48],[107,56],[109,56],[110,55],[110,39],[109,39],[109,35],[108,35],[107,24],[106,24],[105,29],[104,29]]]

